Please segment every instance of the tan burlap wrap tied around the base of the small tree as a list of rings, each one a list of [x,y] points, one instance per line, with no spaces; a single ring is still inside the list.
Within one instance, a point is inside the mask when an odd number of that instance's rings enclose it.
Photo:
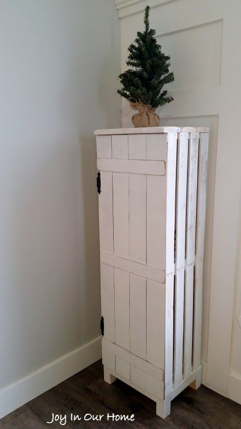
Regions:
[[[133,110],[139,110],[139,113],[136,113],[131,118],[135,128],[159,126],[160,117],[155,113],[156,109],[154,107],[149,104],[142,104],[140,101],[130,103],[130,107]]]

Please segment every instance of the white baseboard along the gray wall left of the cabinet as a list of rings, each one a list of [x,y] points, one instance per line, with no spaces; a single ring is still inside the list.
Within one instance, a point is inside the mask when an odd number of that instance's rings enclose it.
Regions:
[[[101,359],[101,337],[0,391],[0,418]]]

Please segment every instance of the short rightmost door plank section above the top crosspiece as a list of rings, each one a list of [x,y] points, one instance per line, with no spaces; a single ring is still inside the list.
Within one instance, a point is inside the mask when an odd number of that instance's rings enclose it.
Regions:
[[[147,134],[147,159],[167,160],[167,135]]]

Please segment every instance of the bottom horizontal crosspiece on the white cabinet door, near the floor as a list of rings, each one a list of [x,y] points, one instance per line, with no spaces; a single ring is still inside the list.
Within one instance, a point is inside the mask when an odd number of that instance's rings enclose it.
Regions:
[[[126,362],[129,362],[131,365],[140,368],[142,371],[147,372],[147,374],[156,377],[158,380],[163,381],[164,371],[162,368],[159,368],[152,363],[145,361],[144,359],[139,358],[138,356],[133,355],[122,347],[117,346],[113,342],[109,341],[105,337],[102,338],[102,347],[108,350],[114,355],[119,356],[121,359],[124,359]]]

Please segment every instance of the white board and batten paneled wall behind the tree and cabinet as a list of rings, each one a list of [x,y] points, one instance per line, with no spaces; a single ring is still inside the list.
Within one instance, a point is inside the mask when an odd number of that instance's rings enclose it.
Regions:
[[[146,3],[116,0],[116,4],[121,21],[124,71],[127,48],[136,31],[143,28]],[[239,342],[239,331],[233,328],[231,348],[241,156],[238,137],[241,108],[236,97],[240,88],[241,55],[233,40],[241,37],[241,4],[236,0],[150,0],[149,4],[150,25],[157,31],[163,52],[171,57],[170,70],[175,76],[167,87],[174,101],[158,109],[161,125],[211,128],[201,356],[203,382],[227,395],[229,356],[233,353],[232,363],[237,361],[235,344]],[[128,127],[131,125],[130,107],[125,100],[122,106],[122,125]],[[238,365],[232,364],[231,371],[241,378]]]

